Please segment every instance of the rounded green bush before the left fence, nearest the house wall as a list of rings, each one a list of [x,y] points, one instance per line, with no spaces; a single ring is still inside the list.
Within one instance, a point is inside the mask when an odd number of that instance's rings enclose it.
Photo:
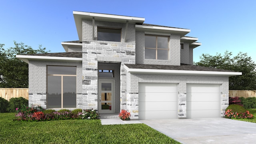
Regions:
[[[16,108],[21,108],[23,105],[28,106],[28,100],[26,98],[10,98],[9,106],[7,108],[8,112],[15,112]]]

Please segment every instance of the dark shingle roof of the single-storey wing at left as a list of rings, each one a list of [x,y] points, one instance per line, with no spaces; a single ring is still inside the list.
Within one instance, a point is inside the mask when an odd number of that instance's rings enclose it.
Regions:
[[[82,58],[82,52],[58,52],[58,53],[46,53],[46,54],[24,54],[28,56],[57,56],[68,58]]]

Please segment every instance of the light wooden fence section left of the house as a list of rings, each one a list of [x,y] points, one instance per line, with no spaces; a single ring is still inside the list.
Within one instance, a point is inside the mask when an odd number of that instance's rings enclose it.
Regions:
[[[0,97],[6,100],[23,97],[28,100],[28,88],[0,88]]]

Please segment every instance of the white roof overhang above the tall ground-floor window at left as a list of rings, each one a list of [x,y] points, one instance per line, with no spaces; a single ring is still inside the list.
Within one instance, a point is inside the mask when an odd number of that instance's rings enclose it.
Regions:
[[[37,61],[65,61],[65,62],[81,62],[82,58],[71,57],[57,57],[57,56],[29,56],[29,55],[16,55],[16,58],[29,63],[29,60]]]

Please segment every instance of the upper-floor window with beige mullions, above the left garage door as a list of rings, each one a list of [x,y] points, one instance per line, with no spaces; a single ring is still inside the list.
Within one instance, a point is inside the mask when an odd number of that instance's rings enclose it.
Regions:
[[[168,37],[145,35],[145,58],[168,60]]]

